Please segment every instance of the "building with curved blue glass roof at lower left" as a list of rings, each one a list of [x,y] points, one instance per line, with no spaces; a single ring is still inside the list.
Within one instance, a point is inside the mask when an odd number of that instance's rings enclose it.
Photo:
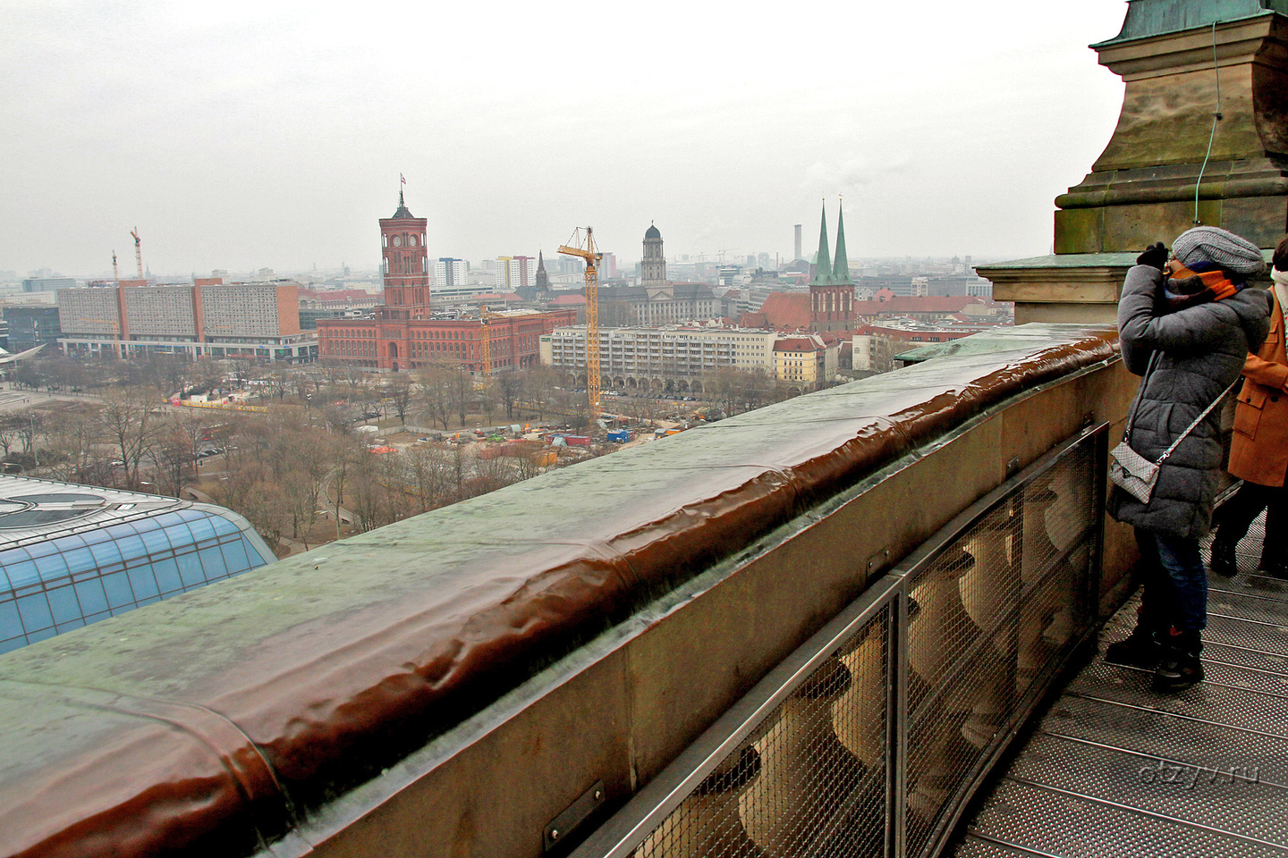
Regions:
[[[222,507],[0,476],[0,652],[273,560]]]

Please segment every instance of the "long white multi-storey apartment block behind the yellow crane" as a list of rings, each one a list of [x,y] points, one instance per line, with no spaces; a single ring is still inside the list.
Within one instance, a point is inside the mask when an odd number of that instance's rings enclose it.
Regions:
[[[720,367],[774,373],[778,334],[742,328],[601,328],[599,373],[605,390],[699,391]],[[541,337],[541,363],[586,383],[586,328]]]

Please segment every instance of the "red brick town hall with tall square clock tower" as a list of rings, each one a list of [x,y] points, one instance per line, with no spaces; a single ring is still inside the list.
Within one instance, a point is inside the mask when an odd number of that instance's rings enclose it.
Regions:
[[[380,219],[384,304],[371,319],[319,319],[318,358],[404,372],[451,361],[483,370],[480,319],[431,320],[426,219],[407,210],[402,193],[393,217]],[[488,319],[492,369],[538,363],[541,334],[577,323],[577,310],[504,310]]]

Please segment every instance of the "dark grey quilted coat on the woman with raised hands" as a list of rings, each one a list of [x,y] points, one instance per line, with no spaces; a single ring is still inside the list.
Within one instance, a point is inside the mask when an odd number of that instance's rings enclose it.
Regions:
[[[1127,369],[1144,376],[1150,356],[1160,352],[1136,394],[1140,410],[1131,435],[1132,449],[1150,461],[1158,461],[1208,403],[1234,383],[1244,358],[1270,331],[1270,293],[1260,288],[1157,315],[1155,293],[1163,289],[1163,279],[1157,268],[1137,265],[1127,271],[1118,301],[1118,338]],[[1213,409],[1163,463],[1149,504],[1115,488],[1109,515],[1173,536],[1206,534],[1221,468],[1220,410]]]

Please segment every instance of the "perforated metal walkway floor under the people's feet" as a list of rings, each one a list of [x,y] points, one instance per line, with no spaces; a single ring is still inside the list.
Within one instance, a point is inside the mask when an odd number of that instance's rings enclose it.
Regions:
[[[1209,576],[1207,680],[1155,693],[1101,656],[1064,689],[965,826],[960,858],[1288,855],[1288,581]],[[1130,601],[1106,641],[1136,619]]]

